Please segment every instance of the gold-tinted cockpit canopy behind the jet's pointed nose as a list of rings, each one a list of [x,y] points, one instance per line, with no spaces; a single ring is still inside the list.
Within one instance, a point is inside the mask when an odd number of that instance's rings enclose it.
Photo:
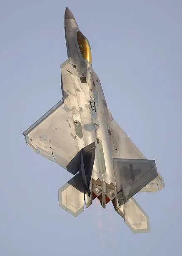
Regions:
[[[88,39],[82,34],[81,31],[77,32],[77,41],[82,54],[83,59],[87,61],[92,61],[91,49]]]

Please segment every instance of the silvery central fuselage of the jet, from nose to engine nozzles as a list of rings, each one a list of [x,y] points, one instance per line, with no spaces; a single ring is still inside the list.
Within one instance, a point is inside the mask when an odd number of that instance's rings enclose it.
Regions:
[[[83,136],[77,137],[79,149],[95,141],[92,179],[115,185],[110,112],[107,109],[100,80],[92,69],[90,44],[80,32],[69,9],[65,12],[65,38],[69,62],[75,68],[75,81],[71,88],[64,88],[62,83],[62,94],[63,101],[66,101],[67,106],[72,109],[74,122],[81,123],[82,126]],[[67,92],[66,97],[65,92]]]

